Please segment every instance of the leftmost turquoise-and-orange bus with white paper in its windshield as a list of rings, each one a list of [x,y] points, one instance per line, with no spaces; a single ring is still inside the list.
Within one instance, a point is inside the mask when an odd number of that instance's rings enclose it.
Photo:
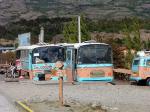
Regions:
[[[64,48],[58,45],[20,46],[16,50],[16,67],[20,75],[28,74],[30,79],[40,80],[51,74],[55,63],[64,61],[64,56]],[[55,77],[52,80],[56,80]]]

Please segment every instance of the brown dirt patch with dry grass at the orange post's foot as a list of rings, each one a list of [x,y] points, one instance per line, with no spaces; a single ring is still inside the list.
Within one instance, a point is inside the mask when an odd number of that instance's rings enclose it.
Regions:
[[[28,102],[27,105],[35,112],[107,112],[100,105],[66,102],[61,106],[58,101]]]

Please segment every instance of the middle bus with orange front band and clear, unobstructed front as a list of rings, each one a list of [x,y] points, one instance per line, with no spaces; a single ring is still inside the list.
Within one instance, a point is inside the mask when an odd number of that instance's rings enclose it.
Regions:
[[[69,82],[113,81],[111,46],[105,43],[64,44],[65,66]]]

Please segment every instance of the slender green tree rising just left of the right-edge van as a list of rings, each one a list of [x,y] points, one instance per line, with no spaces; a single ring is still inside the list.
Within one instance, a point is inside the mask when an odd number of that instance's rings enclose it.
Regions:
[[[131,25],[124,24],[123,34],[124,45],[127,48],[127,53],[125,56],[125,67],[129,69],[131,67],[134,56],[132,50],[135,50],[136,53],[143,48],[140,37],[140,24],[138,19],[134,18]]]

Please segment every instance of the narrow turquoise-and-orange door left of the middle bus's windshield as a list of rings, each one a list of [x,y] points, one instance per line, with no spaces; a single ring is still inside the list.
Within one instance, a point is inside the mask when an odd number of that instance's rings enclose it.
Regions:
[[[66,75],[69,82],[75,81],[75,49],[68,48],[66,50]]]

